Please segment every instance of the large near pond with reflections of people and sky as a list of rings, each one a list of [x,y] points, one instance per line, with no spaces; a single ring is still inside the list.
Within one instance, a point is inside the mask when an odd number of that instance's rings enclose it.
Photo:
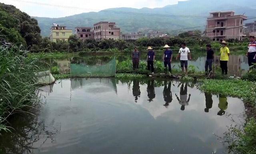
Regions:
[[[240,99],[174,80],[72,78],[41,87],[36,116],[16,116],[2,153],[224,153],[215,135],[244,123]],[[214,135],[214,134],[215,135]]]

